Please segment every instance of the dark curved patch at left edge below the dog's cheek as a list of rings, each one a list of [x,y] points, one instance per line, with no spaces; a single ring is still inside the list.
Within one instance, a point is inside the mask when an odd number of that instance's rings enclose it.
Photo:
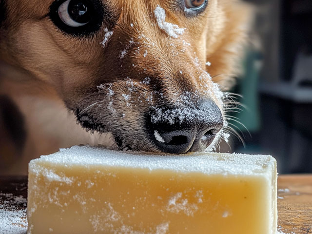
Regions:
[[[0,129],[6,130],[7,137],[14,143],[16,150],[21,153],[27,137],[24,117],[11,98],[4,95],[0,96],[0,123],[2,123]]]

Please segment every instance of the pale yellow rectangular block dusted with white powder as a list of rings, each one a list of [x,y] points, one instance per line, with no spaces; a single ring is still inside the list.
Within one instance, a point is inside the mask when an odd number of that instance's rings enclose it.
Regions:
[[[29,163],[28,234],[276,234],[271,156],[74,146]]]

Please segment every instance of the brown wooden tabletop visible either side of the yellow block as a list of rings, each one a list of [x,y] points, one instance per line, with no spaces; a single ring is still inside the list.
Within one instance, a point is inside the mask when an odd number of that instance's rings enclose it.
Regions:
[[[278,226],[285,234],[312,234],[312,175],[278,177]],[[0,176],[0,193],[27,197],[26,176]],[[3,196],[0,196],[0,202]],[[24,209],[22,206],[20,209]]]

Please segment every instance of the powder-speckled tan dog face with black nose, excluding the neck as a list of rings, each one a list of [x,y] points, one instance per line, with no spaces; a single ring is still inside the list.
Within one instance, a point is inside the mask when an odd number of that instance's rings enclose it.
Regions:
[[[87,130],[171,153],[206,148],[220,131],[223,74],[234,73],[244,40],[237,2],[10,0],[4,9],[1,58],[53,87]]]

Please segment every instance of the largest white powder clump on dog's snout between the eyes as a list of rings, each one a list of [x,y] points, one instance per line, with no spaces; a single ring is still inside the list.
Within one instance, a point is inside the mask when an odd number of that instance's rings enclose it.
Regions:
[[[178,25],[166,22],[166,12],[159,5],[154,10],[158,27],[164,30],[170,37],[178,38],[178,35],[184,33],[185,28],[179,28]]]

